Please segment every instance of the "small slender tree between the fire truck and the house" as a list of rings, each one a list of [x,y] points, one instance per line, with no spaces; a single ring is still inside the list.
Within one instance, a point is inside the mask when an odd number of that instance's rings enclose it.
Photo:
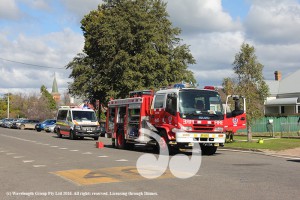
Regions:
[[[232,92],[246,97],[247,135],[248,141],[251,141],[251,126],[264,115],[264,101],[269,95],[269,88],[262,74],[264,66],[258,62],[255,48],[246,43],[241,45],[240,52],[235,55],[233,65],[236,79],[225,78],[222,85],[227,94]]]

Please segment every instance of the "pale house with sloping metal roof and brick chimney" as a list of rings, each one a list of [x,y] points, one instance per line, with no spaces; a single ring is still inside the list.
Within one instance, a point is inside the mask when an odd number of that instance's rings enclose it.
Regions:
[[[265,115],[294,115],[300,113],[300,70],[282,78],[275,71],[275,80],[267,80],[270,96],[265,102]]]

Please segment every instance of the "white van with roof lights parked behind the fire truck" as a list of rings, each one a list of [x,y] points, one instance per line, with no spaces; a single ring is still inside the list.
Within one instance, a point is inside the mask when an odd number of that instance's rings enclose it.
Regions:
[[[71,140],[84,137],[98,140],[101,128],[94,110],[61,106],[57,112],[56,131],[59,138],[64,135]]]

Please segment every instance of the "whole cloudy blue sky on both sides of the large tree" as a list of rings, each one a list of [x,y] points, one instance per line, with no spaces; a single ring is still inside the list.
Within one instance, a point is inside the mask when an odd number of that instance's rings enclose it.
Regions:
[[[164,0],[196,64],[199,87],[233,77],[243,43],[255,48],[266,80],[300,70],[300,0]],[[65,66],[82,52],[80,20],[101,0],[0,0],[0,94],[67,91]]]

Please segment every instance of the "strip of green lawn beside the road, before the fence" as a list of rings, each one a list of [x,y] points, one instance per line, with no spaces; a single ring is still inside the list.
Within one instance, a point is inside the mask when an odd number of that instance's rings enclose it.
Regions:
[[[272,151],[280,151],[285,149],[300,148],[300,139],[270,138],[263,137],[263,144],[259,144],[257,140],[260,137],[253,137],[252,142],[247,142],[247,136],[234,136],[234,141],[225,143],[225,147],[242,148],[242,149],[269,149]]]

